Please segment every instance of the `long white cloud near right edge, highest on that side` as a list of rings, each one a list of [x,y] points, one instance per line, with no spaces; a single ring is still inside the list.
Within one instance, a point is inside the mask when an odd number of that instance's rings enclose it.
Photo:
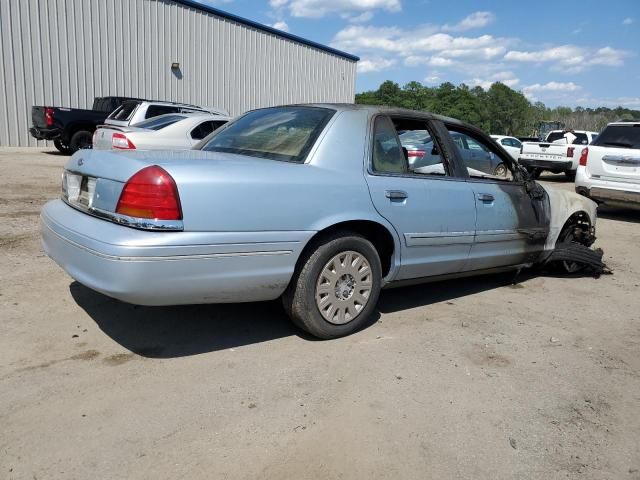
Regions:
[[[504,56],[505,60],[527,63],[550,63],[552,68],[565,73],[578,73],[594,65],[620,66],[630,53],[611,47],[597,50],[575,45],[560,45],[534,52],[511,50]]]

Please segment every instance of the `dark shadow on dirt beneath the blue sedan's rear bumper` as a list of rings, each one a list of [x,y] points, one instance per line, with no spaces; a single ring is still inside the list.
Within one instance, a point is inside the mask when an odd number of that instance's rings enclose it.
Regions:
[[[143,357],[185,357],[292,335],[314,340],[291,323],[279,301],[143,307],[78,282],[69,291],[105,334]]]

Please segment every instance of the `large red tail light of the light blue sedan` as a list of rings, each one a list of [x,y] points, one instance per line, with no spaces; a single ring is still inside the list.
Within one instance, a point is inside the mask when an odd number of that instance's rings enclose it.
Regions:
[[[182,220],[178,187],[163,168],[143,168],[125,184],[116,213],[135,218]]]

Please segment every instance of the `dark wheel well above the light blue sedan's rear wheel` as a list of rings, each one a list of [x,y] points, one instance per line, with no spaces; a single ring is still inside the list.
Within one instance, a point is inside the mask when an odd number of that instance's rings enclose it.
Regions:
[[[395,250],[393,236],[386,227],[370,220],[352,220],[336,223],[335,225],[331,225],[330,227],[317,232],[313,237],[311,237],[307,242],[307,245],[302,250],[300,257],[298,258],[298,262],[296,263],[296,270],[301,267],[299,264],[307,258],[307,255],[316,248],[318,243],[321,242],[324,237],[340,231],[345,233],[358,233],[369,240],[380,257],[382,276],[387,276],[391,270],[391,259],[393,258],[393,252]]]

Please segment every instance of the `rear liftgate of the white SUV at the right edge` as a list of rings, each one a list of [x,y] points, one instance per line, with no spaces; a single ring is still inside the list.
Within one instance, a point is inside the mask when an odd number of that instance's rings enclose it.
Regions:
[[[587,171],[602,180],[640,181],[640,123],[607,126],[589,146]]]

